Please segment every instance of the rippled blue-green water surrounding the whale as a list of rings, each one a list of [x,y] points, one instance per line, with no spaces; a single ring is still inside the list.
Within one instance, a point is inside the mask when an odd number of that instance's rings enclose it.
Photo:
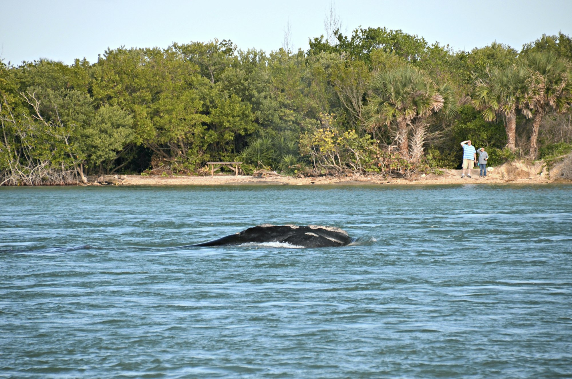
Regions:
[[[377,242],[181,247],[262,223]],[[0,377],[572,377],[571,226],[571,185],[0,188]]]

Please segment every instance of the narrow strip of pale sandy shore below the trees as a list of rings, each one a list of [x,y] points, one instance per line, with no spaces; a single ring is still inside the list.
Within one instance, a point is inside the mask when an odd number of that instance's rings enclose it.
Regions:
[[[137,176],[137,175],[106,175],[90,177],[90,185],[323,185],[323,184],[546,184],[554,183],[549,179],[541,167],[528,166],[493,168],[487,177],[479,177],[474,170],[472,177],[461,178],[461,170],[444,170],[442,174],[430,173],[411,179],[387,179],[380,175],[353,175],[353,176],[319,176],[319,177],[291,177],[276,173],[265,173],[261,176],[235,176],[223,173],[212,176]],[[563,181],[558,181],[562,183]],[[564,183],[572,183],[565,181]]]

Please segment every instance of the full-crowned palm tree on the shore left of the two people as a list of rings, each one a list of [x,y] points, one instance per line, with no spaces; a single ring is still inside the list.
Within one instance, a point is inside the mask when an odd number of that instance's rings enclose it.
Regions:
[[[396,141],[406,159],[410,157],[408,133],[412,125],[422,125],[423,119],[442,109],[448,113],[456,109],[452,91],[444,87],[444,97],[430,78],[412,66],[380,72],[368,87],[364,107],[368,131],[396,124]]]

